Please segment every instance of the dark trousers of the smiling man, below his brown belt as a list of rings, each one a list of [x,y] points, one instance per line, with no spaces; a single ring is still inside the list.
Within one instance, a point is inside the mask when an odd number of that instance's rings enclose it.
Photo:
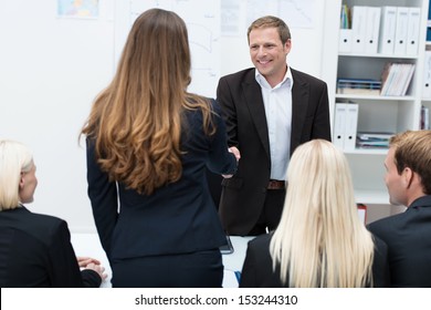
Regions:
[[[267,189],[265,203],[262,213],[254,225],[254,227],[248,234],[249,236],[259,236],[274,230],[282,217],[284,198],[286,196],[286,189]]]

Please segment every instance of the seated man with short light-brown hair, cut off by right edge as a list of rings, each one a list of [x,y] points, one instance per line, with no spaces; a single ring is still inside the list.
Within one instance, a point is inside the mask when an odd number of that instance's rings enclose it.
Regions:
[[[390,140],[385,159],[390,203],[404,213],[368,228],[389,248],[392,287],[431,287],[431,131],[408,131]]]

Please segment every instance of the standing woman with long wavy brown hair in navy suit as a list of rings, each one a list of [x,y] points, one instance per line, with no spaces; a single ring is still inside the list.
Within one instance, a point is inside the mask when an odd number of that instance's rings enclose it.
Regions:
[[[239,153],[216,101],[187,92],[190,68],[183,20],[144,12],[83,128],[113,287],[221,287],[227,240],[206,168],[231,175]]]

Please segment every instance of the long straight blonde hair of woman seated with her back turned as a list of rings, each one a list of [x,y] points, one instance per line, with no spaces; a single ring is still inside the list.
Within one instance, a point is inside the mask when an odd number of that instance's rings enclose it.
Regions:
[[[344,154],[327,141],[307,142],[295,149],[287,182],[270,246],[282,282],[297,288],[372,285],[374,241],[358,217]]]

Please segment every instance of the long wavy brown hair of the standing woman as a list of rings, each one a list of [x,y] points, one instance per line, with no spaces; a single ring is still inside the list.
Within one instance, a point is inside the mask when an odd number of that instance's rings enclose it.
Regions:
[[[82,134],[95,141],[111,180],[151,194],[182,173],[185,110],[200,110],[213,134],[209,101],[188,93],[191,69],[186,23],[175,12],[145,11],[127,38],[118,70],[95,100]]]

